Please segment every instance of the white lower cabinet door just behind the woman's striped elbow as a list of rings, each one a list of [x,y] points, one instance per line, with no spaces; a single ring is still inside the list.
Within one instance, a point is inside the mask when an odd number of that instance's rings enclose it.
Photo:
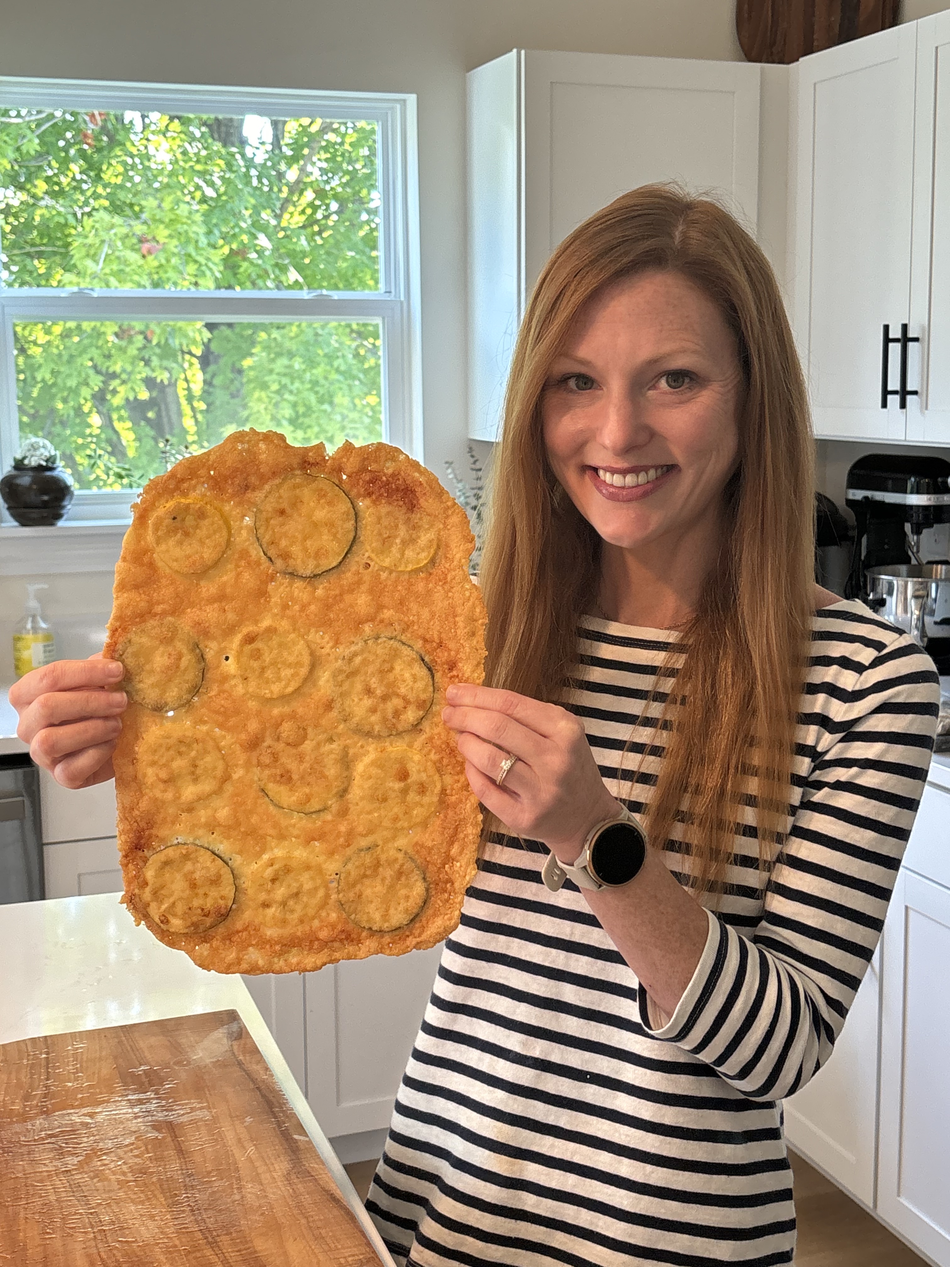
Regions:
[[[827,1063],[784,1101],[792,1148],[869,1207],[874,1206],[879,1016],[880,945]]]

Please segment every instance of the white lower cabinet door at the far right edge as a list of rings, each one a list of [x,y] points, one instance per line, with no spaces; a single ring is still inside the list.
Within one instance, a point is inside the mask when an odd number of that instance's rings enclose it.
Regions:
[[[950,822],[944,827],[950,846]],[[902,870],[884,946],[878,1213],[950,1267],[950,888]]]

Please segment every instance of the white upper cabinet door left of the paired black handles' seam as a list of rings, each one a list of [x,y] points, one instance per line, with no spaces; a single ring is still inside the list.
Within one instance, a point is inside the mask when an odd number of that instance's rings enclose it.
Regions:
[[[898,397],[882,408],[882,362],[883,327],[897,340],[909,321],[916,44],[915,24],[894,27],[804,57],[794,71],[789,271],[818,436],[904,438]],[[912,378],[918,345],[909,347]],[[901,350],[889,353],[897,389]]]

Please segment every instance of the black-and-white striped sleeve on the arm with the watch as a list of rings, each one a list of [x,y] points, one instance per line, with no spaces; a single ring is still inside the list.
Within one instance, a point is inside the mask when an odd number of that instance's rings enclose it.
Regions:
[[[751,1100],[792,1095],[831,1054],[880,938],[934,746],[940,684],[906,635],[847,685],[816,693],[806,698],[821,739],[755,931],[707,911],[706,949],[673,1016],[640,991],[654,1038]]]

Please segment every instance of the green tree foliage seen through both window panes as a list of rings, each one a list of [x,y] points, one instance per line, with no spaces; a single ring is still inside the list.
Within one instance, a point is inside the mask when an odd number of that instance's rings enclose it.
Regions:
[[[379,289],[376,125],[158,113],[0,115],[8,286]],[[381,436],[376,322],[15,326],[22,432],[79,488],[244,426],[295,443]]]

